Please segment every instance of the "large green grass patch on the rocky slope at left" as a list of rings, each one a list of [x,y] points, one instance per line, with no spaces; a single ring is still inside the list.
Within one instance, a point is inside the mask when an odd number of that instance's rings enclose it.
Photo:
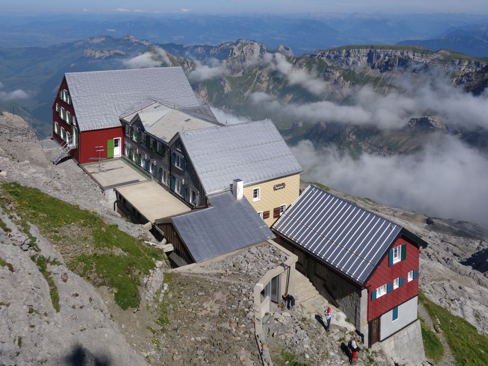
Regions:
[[[139,306],[141,279],[154,268],[154,259],[163,257],[160,250],[117,225],[105,224],[96,212],[81,210],[38,189],[2,183],[0,191],[6,197],[0,204],[12,203],[21,221],[37,225],[61,254],[82,251],[67,261],[69,269],[94,285],[115,288],[115,302],[122,309]]]

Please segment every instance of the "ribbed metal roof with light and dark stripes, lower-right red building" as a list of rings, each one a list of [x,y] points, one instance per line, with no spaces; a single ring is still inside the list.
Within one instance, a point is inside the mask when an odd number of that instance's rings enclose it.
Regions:
[[[273,230],[364,285],[402,230],[372,212],[310,185]]]

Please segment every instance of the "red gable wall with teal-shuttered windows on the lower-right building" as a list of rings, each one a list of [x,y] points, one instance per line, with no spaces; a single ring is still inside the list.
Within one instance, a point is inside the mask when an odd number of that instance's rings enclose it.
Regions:
[[[368,322],[418,294],[418,278],[408,282],[407,274],[409,271],[418,270],[419,268],[419,248],[402,238],[397,239],[391,248],[403,244],[407,245],[405,260],[388,266],[388,253],[386,253],[385,258],[382,259],[380,265],[366,284],[366,288],[368,288]],[[376,300],[371,300],[372,291],[382,285],[392,284],[393,280],[399,277],[404,278],[403,286],[393,289]]]

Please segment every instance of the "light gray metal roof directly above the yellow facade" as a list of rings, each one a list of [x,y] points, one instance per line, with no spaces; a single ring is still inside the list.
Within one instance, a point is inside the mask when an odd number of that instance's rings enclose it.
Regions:
[[[303,171],[271,120],[180,132],[207,195]]]

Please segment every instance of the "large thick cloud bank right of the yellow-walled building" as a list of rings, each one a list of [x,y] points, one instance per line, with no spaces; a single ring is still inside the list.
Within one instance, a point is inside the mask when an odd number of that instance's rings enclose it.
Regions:
[[[353,160],[310,141],[292,147],[303,177],[352,195],[429,216],[488,227],[488,159],[451,136],[436,136],[417,154],[362,154]]]

